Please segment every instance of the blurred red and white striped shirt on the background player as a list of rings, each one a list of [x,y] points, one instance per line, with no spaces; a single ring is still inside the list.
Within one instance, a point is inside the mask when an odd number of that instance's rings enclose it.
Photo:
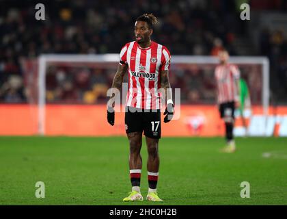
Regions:
[[[234,64],[220,64],[215,68],[217,80],[217,102],[238,101],[240,71]]]

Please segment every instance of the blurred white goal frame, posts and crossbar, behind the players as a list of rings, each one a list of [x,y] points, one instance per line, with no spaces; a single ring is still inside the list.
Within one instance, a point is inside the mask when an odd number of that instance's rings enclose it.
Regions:
[[[81,64],[101,64],[101,66],[109,66],[109,64],[118,64],[118,54],[104,55],[70,55],[70,54],[45,54],[38,57],[38,134],[45,134],[45,105],[46,105],[46,70],[49,64],[57,65],[66,63],[70,65]],[[206,68],[213,73],[215,65],[218,64],[217,57],[211,56],[194,56],[194,55],[172,55],[171,71],[176,73],[178,69],[196,66],[197,68]],[[261,100],[260,105],[263,109],[263,115],[267,118],[269,111],[269,60],[267,57],[258,56],[231,56],[230,63],[236,64],[239,68],[257,66],[258,80],[260,83]],[[258,67],[259,66],[259,67]],[[249,68],[245,70],[248,73]],[[252,88],[250,88],[252,90]],[[252,99],[251,99],[252,102]],[[215,100],[213,101],[215,103]],[[267,120],[267,119],[266,119]]]

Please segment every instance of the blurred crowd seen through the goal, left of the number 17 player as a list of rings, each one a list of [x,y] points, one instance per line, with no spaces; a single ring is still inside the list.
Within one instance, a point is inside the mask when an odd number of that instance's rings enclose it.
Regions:
[[[50,66],[46,72],[47,103],[102,103],[115,70]]]

